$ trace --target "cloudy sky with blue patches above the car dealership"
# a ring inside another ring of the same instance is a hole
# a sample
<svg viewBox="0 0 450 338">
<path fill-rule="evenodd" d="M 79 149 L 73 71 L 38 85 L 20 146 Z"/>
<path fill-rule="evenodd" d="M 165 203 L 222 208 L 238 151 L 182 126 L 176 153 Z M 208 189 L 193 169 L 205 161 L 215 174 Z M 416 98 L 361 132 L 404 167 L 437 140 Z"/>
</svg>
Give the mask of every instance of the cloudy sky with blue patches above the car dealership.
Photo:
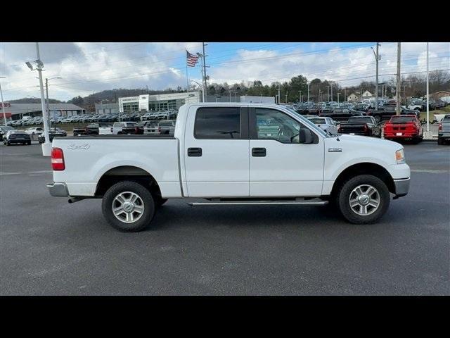
<svg viewBox="0 0 450 338">
<path fill-rule="evenodd" d="M 41 43 L 50 97 L 67 101 L 74 96 L 114 88 L 167 89 L 186 87 L 186 48 L 201 52 L 201 42 L 169 43 Z M 206 46 L 207 74 L 212 82 L 286 81 L 295 75 L 309 80 L 335 80 L 342 87 L 375 80 L 375 42 L 352 43 L 224 43 Z M 380 81 L 397 72 L 397 43 L 381 42 Z M 37 72 L 25 61 L 37 58 L 34 43 L 0 42 L 0 76 L 4 101 L 40 96 Z M 450 44 L 430 43 L 430 70 L 450 69 Z M 426 44 L 401 44 L 401 72 L 426 70 Z M 383 76 L 384 75 L 384 76 Z M 188 68 L 190 80 L 200 82 L 200 63 Z"/>
</svg>

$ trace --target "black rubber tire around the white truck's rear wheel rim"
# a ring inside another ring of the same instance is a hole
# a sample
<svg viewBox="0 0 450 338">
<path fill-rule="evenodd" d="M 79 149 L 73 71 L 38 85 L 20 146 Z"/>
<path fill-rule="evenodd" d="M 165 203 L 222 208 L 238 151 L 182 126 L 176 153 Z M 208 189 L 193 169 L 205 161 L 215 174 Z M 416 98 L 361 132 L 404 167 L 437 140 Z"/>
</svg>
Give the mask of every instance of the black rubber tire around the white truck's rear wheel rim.
<svg viewBox="0 0 450 338">
<path fill-rule="evenodd" d="M 126 223 L 117 219 L 113 213 L 113 201 L 115 201 L 115 197 L 121 192 L 133 192 L 143 202 L 143 213 L 141 217 L 132 223 Z M 155 201 L 152 194 L 142 184 L 133 181 L 118 182 L 110 187 L 103 196 L 101 208 L 103 216 L 108 220 L 108 223 L 116 230 L 122 232 L 138 232 L 145 229 L 155 215 Z"/>
</svg>

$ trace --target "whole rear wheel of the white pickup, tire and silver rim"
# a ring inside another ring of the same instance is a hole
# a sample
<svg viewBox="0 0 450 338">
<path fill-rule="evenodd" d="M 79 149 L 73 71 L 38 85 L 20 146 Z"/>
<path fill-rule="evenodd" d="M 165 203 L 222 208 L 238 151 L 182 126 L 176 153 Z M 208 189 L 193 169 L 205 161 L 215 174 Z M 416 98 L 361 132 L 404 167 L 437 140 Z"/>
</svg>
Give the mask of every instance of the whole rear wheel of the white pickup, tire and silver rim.
<svg viewBox="0 0 450 338">
<path fill-rule="evenodd" d="M 114 184 L 103 196 L 102 211 L 108 223 L 122 232 L 138 232 L 155 215 L 155 201 L 143 185 L 133 181 Z"/>
</svg>

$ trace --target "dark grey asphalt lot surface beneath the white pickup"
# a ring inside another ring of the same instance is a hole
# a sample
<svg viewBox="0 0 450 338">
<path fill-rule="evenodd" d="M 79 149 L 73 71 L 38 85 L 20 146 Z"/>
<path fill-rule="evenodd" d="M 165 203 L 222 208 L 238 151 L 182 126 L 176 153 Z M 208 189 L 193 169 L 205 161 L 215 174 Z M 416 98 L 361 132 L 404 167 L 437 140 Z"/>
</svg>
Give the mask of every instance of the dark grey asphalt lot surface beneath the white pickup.
<svg viewBox="0 0 450 338">
<path fill-rule="evenodd" d="M 162 206 L 110 227 L 100 200 L 51 197 L 39 144 L 0 144 L 1 295 L 450 294 L 450 146 L 405 144 L 411 189 L 375 225 L 323 207 Z"/>
</svg>

